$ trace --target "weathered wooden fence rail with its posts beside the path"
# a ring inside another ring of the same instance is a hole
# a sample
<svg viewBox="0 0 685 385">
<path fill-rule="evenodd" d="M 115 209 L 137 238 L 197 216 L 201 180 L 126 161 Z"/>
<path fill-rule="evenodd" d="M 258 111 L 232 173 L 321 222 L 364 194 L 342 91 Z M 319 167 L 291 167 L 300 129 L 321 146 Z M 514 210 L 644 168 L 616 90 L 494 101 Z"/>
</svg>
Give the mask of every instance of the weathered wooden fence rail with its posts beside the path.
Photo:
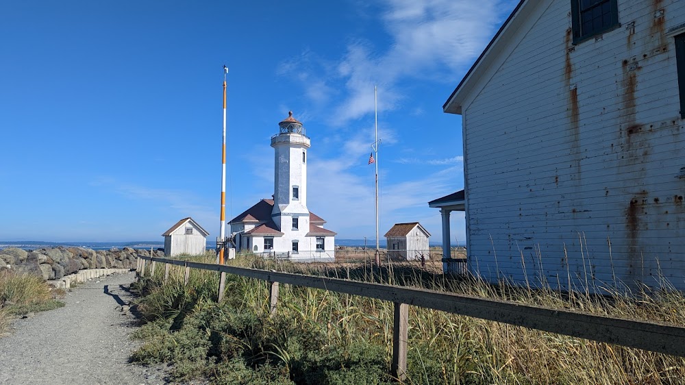
<svg viewBox="0 0 685 385">
<path fill-rule="evenodd" d="M 470 297 L 421 288 L 356 282 L 295 273 L 279 273 L 167 258 L 147 256 L 138 256 L 138 258 L 140 258 L 138 267 L 141 274 L 145 274 L 145 261 L 148 260 L 152 262 L 152 266 L 155 266 L 155 262 L 184 266 L 186 268 L 186 283 L 188 282 L 189 269 L 221 272 L 220 301 L 223 298 L 227 273 L 270 282 L 271 314 L 276 312 L 279 283 L 391 301 L 395 304 L 392 371 L 393 375 L 400 380 L 406 378 L 407 369 L 408 305 L 564 334 L 565 336 L 586 338 L 601 343 L 685 357 L 685 327 L 650 321 L 615 319 L 608 316 L 541 308 L 510 301 Z M 154 267 L 151 270 L 154 271 Z"/>
</svg>

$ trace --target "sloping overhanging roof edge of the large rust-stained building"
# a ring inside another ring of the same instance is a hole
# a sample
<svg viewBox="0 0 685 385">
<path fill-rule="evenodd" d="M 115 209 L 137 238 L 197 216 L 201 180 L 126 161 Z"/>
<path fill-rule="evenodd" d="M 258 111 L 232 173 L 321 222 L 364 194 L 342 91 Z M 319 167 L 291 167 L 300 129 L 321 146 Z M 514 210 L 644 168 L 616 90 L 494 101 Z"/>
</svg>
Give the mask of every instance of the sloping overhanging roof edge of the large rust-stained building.
<svg viewBox="0 0 685 385">
<path fill-rule="evenodd" d="M 485 47 L 484 51 L 478 56 L 478 58 L 475 60 L 475 63 L 473 63 L 473 66 L 471 66 L 471 69 L 469 69 L 469 72 L 464 75 L 462 78 L 462 81 L 458 84 L 457 88 L 455 88 L 451 95 L 449 95 L 449 98 L 447 98 L 447 101 L 445 101 L 445 104 L 443 104 L 443 111 L 444 112 L 449 112 L 451 114 L 461 114 L 462 113 L 462 106 L 460 105 L 460 101 L 456 100 L 458 98 L 458 93 L 462 90 L 462 88 L 466 88 L 465 84 L 467 82 L 470 82 L 472 78 L 477 78 L 480 73 L 485 71 L 488 66 L 490 66 L 490 62 L 493 60 L 493 56 L 497 55 L 501 49 L 495 50 L 493 47 L 495 45 L 498 45 L 500 40 L 505 40 L 503 39 L 503 36 L 506 36 L 510 27 L 516 31 L 518 27 L 521 25 L 521 20 L 525 19 L 526 16 L 528 16 L 531 13 L 531 10 L 536 6 L 540 5 L 543 3 L 543 1 L 536 0 L 536 1 L 529 1 L 529 0 L 521 0 L 519 3 L 516 5 L 516 8 L 512 11 L 512 13 L 509 15 L 509 17 L 504 21 L 501 27 L 499 27 L 499 30 L 497 31 L 497 34 L 493 37 L 493 40 L 490 40 L 488 43 L 488 46 Z M 507 42 L 503 42 L 503 45 L 506 45 Z M 490 54 L 491 52 L 493 54 Z"/>
</svg>

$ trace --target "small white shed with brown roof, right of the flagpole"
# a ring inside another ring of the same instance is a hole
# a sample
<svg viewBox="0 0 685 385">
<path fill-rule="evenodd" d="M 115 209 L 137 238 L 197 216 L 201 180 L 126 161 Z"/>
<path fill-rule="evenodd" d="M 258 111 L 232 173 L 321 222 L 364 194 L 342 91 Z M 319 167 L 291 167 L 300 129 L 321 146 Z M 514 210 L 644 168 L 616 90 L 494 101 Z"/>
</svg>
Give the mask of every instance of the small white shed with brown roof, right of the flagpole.
<svg viewBox="0 0 685 385">
<path fill-rule="evenodd" d="M 416 260 L 429 258 L 429 232 L 419 222 L 395 223 L 385 234 L 388 256 Z"/>
</svg>

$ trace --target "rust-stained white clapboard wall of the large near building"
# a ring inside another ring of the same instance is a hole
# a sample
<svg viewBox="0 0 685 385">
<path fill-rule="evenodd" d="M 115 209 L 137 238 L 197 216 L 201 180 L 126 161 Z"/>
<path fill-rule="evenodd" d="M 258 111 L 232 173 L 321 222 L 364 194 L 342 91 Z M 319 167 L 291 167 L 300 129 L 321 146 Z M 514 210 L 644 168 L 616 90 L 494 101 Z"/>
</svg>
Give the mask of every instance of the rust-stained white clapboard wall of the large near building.
<svg viewBox="0 0 685 385">
<path fill-rule="evenodd" d="M 621 26 L 574 46 L 571 2 L 542 2 L 464 103 L 470 269 L 685 289 L 685 128 L 665 35 L 685 7 L 619 0 Z"/>
</svg>

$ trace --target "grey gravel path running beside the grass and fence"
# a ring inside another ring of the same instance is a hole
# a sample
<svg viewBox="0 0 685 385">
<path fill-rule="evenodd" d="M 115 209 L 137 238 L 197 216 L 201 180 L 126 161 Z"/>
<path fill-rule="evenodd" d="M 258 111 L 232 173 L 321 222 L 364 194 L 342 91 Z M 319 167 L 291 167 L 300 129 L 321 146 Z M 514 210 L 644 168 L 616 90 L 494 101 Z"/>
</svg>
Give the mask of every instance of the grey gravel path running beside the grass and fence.
<svg viewBox="0 0 685 385">
<path fill-rule="evenodd" d="M 12 323 L 0 338 L 0 384 L 165 384 L 164 371 L 129 364 L 134 316 L 122 312 L 135 273 L 100 277 L 66 293 L 66 306 Z"/>
</svg>

